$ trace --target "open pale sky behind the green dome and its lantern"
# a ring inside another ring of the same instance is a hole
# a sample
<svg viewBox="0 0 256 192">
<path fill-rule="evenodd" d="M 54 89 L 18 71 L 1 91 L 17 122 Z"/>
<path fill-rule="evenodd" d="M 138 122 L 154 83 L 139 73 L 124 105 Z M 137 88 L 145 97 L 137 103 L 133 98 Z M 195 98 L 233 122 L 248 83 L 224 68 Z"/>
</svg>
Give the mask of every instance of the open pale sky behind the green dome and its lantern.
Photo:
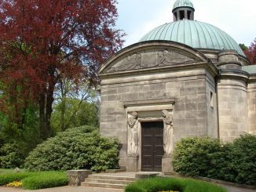
<svg viewBox="0 0 256 192">
<path fill-rule="evenodd" d="M 126 33 L 124 46 L 138 42 L 159 25 L 173 22 L 176 0 L 118 0 L 116 27 Z M 191 0 L 195 20 L 212 24 L 235 39 L 251 45 L 256 38 L 256 0 Z"/>
</svg>

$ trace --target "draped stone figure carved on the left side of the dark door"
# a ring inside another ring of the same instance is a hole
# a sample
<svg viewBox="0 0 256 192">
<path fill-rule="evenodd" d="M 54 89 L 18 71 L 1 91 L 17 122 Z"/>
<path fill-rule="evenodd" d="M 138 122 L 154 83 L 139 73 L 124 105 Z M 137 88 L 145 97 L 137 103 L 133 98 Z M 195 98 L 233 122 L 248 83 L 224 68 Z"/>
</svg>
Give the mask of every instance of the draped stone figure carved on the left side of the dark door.
<svg viewBox="0 0 256 192">
<path fill-rule="evenodd" d="M 137 157 L 138 156 L 138 114 L 133 112 L 131 115 L 128 114 L 128 156 Z"/>
</svg>

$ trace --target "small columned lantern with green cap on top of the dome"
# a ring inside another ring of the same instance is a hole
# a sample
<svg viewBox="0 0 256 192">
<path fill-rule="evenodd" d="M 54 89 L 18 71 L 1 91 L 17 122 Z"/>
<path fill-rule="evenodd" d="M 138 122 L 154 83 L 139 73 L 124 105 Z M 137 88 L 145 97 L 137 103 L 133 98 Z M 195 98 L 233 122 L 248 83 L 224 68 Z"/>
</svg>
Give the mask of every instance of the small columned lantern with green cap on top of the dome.
<svg viewBox="0 0 256 192">
<path fill-rule="evenodd" d="M 190 0 L 177 0 L 174 2 L 174 21 L 194 20 L 195 9 Z"/>
</svg>

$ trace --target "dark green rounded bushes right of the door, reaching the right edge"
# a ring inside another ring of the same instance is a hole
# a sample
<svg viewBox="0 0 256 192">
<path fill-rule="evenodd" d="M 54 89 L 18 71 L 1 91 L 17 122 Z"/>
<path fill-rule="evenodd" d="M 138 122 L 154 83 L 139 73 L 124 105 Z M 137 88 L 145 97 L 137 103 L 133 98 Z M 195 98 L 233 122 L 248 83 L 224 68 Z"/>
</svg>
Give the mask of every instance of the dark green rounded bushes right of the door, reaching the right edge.
<svg viewBox="0 0 256 192">
<path fill-rule="evenodd" d="M 256 186 L 256 136 L 233 143 L 218 139 L 185 138 L 174 150 L 174 170 L 185 176 L 205 176 Z"/>
</svg>

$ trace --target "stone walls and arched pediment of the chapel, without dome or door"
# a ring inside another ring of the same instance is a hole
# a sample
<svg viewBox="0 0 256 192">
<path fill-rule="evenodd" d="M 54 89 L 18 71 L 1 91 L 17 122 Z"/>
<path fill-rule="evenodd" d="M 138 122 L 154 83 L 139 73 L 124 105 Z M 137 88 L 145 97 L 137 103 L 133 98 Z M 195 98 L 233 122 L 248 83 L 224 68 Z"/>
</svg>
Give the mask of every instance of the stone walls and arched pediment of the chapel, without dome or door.
<svg viewBox="0 0 256 192">
<path fill-rule="evenodd" d="M 165 122 L 163 111 L 171 115 L 174 145 L 188 136 L 226 142 L 256 132 L 256 78 L 242 71 L 247 64 L 235 51 L 199 52 L 164 41 L 137 43 L 112 56 L 99 70 L 101 135 L 120 139 L 119 165 L 142 170 L 141 122 Z M 163 172 L 172 171 L 170 161 L 164 154 Z"/>
</svg>

